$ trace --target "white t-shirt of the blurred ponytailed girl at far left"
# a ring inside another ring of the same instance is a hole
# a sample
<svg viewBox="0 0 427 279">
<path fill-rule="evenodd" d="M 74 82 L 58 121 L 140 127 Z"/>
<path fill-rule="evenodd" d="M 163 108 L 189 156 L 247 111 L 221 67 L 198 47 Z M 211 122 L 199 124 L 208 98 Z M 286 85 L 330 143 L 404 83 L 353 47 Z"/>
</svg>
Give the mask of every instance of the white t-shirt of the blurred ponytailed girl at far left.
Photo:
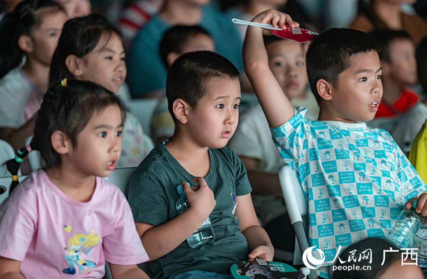
<svg viewBox="0 0 427 279">
<path fill-rule="evenodd" d="M 21 67 L 0 79 L 0 127 L 19 128 L 36 113 L 44 92 L 35 88 Z"/>
</svg>

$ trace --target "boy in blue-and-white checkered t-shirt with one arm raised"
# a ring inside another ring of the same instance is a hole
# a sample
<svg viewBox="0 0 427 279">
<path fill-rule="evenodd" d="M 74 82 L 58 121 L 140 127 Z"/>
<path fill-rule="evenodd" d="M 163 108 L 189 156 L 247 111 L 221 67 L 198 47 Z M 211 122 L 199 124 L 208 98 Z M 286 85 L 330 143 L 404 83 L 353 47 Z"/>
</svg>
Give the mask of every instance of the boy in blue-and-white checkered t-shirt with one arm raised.
<svg viewBox="0 0 427 279">
<path fill-rule="evenodd" d="M 253 22 L 284 28 L 288 15 L 268 10 Z M 306 55 L 307 75 L 320 104 L 318 121 L 294 109 L 268 65 L 263 32 L 249 26 L 243 47 L 245 71 L 285 163 L 296 172 L 309 210 L 309 245 L 330 266 L 358 239 L 385 237 L 400 211 L 427 186 L 390 134 L 370 129 L 382 96 L 377 42 L 361 31 L 331 29 L 317 36 Z M 417 205 L 427 209 L 427 194 Z M 423 217 L 425 212 L 423 211 Z M 317 270 L 329 278 L 328 269 Z M 326 271 L 326 272 L 325 272 Z"/>
</svg>

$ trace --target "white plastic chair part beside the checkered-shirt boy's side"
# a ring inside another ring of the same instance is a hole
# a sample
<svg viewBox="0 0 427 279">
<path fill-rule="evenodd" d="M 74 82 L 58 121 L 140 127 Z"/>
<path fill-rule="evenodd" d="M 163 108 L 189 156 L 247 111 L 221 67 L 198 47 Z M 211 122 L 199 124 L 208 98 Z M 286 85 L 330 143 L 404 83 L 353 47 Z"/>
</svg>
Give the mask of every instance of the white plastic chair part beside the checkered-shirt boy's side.
<svg viewBox="0 0 427 279">
<path fill-rule="evenodd" d="M 286 165 L 280 168 L 279 180 L 290 222 L 295 230 L 293 264 L 301 265 L 303 264 L 301 251 L 309 248 L 307 235 L 305 234 L 308 229 L 308 222 L 303 222 L 303 216 L 308 217 L 308 204 L 302 191 L 301 183 L 289 166 Z M 304 220 L 307 219 L 304 218 Z M 308 278 L 315 279 L 316 277 L 316 272 L 310 270 Z"/>
</svg>

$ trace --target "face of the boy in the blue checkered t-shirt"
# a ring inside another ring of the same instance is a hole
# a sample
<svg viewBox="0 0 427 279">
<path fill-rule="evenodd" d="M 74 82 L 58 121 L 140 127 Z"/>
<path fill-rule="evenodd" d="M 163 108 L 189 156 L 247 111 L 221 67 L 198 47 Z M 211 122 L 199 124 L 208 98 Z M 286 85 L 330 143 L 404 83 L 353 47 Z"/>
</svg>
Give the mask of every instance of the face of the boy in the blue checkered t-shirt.
<svg viewBox="0 0 427 279">
<path fill-rule="evenodd" d="M 372 120 L 382 92 L 377 52 L 355 54 L 350 58 L 350 67 L 340 74 L 336 88 L 331 88 L 327 114 L 334 120 L 348 123 Z"/>
</svg>

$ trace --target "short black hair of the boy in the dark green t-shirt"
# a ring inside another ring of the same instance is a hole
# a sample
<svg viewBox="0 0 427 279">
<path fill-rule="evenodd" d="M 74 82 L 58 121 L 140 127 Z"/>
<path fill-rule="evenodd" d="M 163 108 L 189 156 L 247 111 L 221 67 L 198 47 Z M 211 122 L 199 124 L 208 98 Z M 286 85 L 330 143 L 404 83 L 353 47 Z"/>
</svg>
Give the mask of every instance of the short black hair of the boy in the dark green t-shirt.
<svg viewBox="0 0 427 279">
<path fill-rule="evenodd" d="M 175 60 L 166 79 L 167 104 L 174 121 L 173 102 L 183 99 L 196 108 L 206 95 L 207 82 L 214 77 L 237 79 L 239 71 L 225 57 L 212 51 L 189 52 Z"/>
</svg>

